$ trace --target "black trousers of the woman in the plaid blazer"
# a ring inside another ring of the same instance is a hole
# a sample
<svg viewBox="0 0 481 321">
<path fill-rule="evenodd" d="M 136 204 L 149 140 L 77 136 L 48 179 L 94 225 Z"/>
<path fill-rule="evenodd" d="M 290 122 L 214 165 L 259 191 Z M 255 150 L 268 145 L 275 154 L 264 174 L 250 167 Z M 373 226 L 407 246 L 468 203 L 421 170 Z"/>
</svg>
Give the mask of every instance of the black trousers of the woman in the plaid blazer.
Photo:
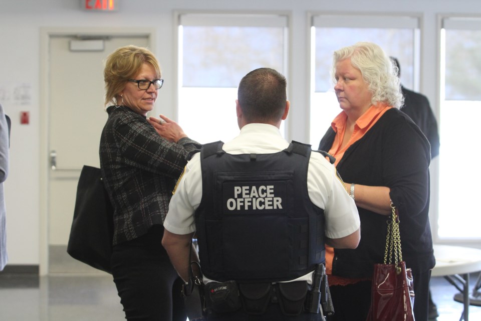
<svg viewBox="0 0 481 321">
<path fill-rule="evenodd" d="M 162 247 L 163 226 L 114 246 L 112 275 L 129 321 L 185 321 L 183 283 Z"/>
</svg>

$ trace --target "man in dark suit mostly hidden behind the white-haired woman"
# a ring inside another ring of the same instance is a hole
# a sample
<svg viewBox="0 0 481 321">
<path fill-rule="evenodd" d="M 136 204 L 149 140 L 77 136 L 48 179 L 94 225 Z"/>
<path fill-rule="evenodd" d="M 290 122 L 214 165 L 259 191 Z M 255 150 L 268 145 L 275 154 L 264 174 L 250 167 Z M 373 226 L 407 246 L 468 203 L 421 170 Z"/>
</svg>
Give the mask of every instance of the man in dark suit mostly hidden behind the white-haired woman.
<svg viewBox="0 0 481 321">
<path fill-rule="evenodd" d="M 399 61 L 394 57 L 391 57 L 391 60 L 398 69 L 397 76 L 400 77 L 401 67 L 399 66 Z M 404 96 L 404 105 L 401 107 L 401 111 L 411 117 L 426 136 L 427 140 L 429 140 L 432 159 L 439 155 L 439 133 L 437 131 L 436 118 L 432 113 L 429 100 L 426 96 L 406 89 L 402 85 L 401 91 Z M 429 319 L 435 319 L 439 316 L 436 304 L 434 304 L 431 298 L 431 290 L 429 290 L 428 313 Z"/>
</svg>

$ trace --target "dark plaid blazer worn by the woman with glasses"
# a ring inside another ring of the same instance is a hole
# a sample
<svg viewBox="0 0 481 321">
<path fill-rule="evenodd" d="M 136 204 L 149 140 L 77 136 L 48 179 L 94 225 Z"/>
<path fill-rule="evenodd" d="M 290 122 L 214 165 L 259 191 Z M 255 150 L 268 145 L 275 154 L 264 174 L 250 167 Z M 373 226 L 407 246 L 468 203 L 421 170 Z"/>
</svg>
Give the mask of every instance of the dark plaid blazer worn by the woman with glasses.
<svg viewBox="0 0 481 321">
<path fill-rule="evenodd" d="M 186 155 L 200 144 L 162 138 L 126 106 L 110 106 L 100 138 L 100 168 L 114 206 L 113 244 L 135 239 L 162 224 Z"/>
</svg>

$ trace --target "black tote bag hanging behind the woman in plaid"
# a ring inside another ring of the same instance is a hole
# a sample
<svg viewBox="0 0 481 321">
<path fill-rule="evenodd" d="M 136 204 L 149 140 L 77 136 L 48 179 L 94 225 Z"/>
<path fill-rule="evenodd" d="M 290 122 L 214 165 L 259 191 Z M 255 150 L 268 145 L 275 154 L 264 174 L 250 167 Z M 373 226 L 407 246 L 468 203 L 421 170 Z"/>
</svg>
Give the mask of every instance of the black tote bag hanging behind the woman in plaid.
<svg viewBox="0 0 481 321">
<path fill-rule="evenodd" d="M 100 169 L 84 165 L 77 186 L 67 253 L 96 269 L 112 273 L 113 213 Z"/>
</svg>

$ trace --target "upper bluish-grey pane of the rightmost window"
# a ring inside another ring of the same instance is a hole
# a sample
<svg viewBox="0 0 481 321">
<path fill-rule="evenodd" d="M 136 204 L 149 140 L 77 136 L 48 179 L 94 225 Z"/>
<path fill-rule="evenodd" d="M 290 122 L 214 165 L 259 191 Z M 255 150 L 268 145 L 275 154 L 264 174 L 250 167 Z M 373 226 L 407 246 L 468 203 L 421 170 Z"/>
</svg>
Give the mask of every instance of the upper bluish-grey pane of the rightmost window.
<svg viewBox="0 0 481 321">
<path fill-rule="evenodd" d="M 446 100 L 481 100 L 481 31 L 446 30 Z"/>
</svg>

